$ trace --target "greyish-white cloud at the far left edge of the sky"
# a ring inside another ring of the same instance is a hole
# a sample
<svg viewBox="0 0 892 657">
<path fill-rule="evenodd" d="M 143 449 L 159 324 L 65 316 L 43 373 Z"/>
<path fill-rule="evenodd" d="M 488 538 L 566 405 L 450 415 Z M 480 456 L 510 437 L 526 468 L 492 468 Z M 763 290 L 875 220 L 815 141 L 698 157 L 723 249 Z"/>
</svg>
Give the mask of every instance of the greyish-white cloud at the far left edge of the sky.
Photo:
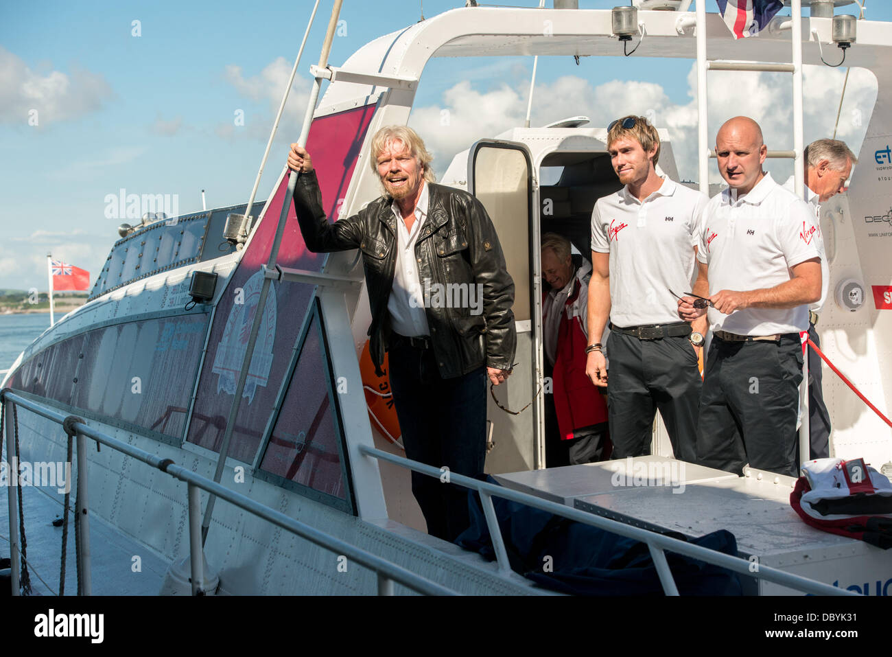
<svg viewBox="0 0 892 657">
<path fill-rule="evenodd" d="M 70 75 L 40 75 L 0 46 L 0 123 L 44 127 L 95 112 L 111 96 L 98 73 L 72 66 Z"/>
</svg>

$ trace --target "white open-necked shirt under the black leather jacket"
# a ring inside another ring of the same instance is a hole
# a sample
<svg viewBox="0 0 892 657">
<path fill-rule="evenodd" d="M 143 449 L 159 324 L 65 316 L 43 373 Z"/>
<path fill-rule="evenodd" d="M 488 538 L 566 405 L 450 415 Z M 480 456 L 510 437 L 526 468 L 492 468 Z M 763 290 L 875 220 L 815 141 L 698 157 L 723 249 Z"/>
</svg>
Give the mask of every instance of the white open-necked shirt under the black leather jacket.
<svg viewBox="0 0 892 657">
<path fill-rule="evenodd" d="M 418 279 L 418 260 L 415 245 L 421 234 L 421 225 L 427 218 L 427 184 L 422 183 L 421 195 L 415 206 L 415 222 L 406 228 L 400 206 L 394 200 L 391 206 L 396 216 L 396 269 L 393 271 L 393 287 L 387 299 L 387 311 L 391 315 L 391 328 L 402 336 L 429 336 L 425 312 L 425 296 Z"/>
</svg>

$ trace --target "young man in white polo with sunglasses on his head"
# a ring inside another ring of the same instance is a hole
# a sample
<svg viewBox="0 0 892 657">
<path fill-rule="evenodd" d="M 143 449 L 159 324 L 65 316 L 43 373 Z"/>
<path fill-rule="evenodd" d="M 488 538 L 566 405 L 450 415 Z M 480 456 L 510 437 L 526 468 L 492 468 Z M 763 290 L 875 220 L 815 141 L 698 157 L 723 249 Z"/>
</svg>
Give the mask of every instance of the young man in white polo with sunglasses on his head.
<svg viewBox="0 0 892 657">
<path fill-rule="evenodd" d="M 708 199 L 657 175 L 659 136 L 644 117 L 611 123 L 607 150 L 625 187 L 599 198 L 591 214 L 586 373 L 596 386 L 607 386 L 613 458 L 650 453 L 659 409 L 675 457 L 693 462 L 706 320 L 695 321 L 692 332 L 679 321 L 673 295 L 690 290 Z M 604 346 L 596 341 L 608 318 Z"/>
</svg>

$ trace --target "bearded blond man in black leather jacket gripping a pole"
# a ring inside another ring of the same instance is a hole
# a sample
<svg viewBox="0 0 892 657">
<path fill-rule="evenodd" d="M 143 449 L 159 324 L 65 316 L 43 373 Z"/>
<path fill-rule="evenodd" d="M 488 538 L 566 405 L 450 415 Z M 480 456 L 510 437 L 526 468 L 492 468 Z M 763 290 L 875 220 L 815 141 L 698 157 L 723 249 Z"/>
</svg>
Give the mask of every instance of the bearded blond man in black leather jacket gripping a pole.
<svg viewBox="0 0 892 657">
<path fill-rule="evenodd" d="M 369 352 L 379 375 L 389 353 L 407 458 L 475 477 L 486 456 L 486 378 L 498 386 L 511 373 L 514 282 L 483 204 L 434 183 L 414 130 L 380 129 L 370 159 L 384 195 L 329 223 L 310 154 L 292 145 L 301 234 L 313 252 L 362 251 Z M 412 492 L 432 536 L 451 541 L 467 528 L 467 490 L 448 477 L 413 472 Z"/>
</svg>

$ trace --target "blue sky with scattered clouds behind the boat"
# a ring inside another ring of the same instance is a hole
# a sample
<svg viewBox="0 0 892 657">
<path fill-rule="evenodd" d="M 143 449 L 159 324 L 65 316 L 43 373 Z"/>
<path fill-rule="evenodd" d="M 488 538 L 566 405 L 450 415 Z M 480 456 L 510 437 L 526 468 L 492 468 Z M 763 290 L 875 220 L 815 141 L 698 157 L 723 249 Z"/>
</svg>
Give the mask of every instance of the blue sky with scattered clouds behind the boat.
<svg viewBox="0 0 892 657">
<path fill-rule="evenodd" d="M 176 195 L 180 212 L 201 209 L 202 188 L 209 207 L 244 203 L 312 4 L 4 2 L 0 225 L 5 239 L 0 246 L 0 287 L 44 290 L 42 259 L 47 251 L 95 277 L 120 223 L 105 216 L 105 197 L 117 195 L 120 188 Z M 341 64 L 369 40 L 417 21 L 422 10 L 430 17 L 463 4 L 345 0 L 341 18 L 346 35 L 335 38 L 330 62 Z M 536 6 L 538 0 L 510 4 Z M 615 4 L 621 3 L 580 0 L 582 9 Z M 297 136 L 300 101 L 310 85 L 308 67 L 318 60 L 331 5 L 331 0 L 320 4 L 298 71 L 295 102 L 289 104 L 270 156 L 260 199 L 268 195 L 285 148 Z M 708 11 L 715 11 L 714 3 Z M 846 11 L 855 12 L 854 5 Z M 892 7 L 869 2 L 867 15 L 892 21 Z M 139 21 L 139 36 L 134 36 L 133 21 Z M 439 116 L 442 107 L 453 113 L 453 134 L 434 137 L 430 144 L 439 173 L 470 140 L 522 121 L 532 65 L 527 57 L 434 60 L 428 66 L 409 122 L 425 134 L 425 117 Z M 691 66 L 685 60 L 634 57 L 583 58 L 576 66 L 569 57 L 542 58 L 533 125 L 580 113 L 601 125 L 612 112 L 653 111 L 657 124 L 678 139 L 681 174 L 690 178 L 696 162 L 684 145 L 692 129 Z M 814 85 L 828 87 L 828 106 L 831 96 L 838 103 L 838 89 L 830 87 L 839 86 L 840 76 L 830 70 L 812 75 Z M 808 80 L 806 71 L 806 92 Z M 754 77 L 752 85 L 747 96 L 769 97 L 781 88 L 770 77 Z M 869 113 L 870 79 L 859 79 L 853 71 L 849 85 L 851 106 L 844 108 L 844 116 Z M 712 98 L 712 87 L 710 94 Z M 558 96 L 562 101 L 554 103 Z M 631 106 L 615 103 L 626 96 L 635 99 Z M 239 110 L 244 112 L 244 126 L 234 124 Z M 835 112 L 832 104 L 834 118 Z M 824 111 L 806 116 L 806 141 L 826 136 L 827 116 Z M 35 117 L 37 125 L 29 124 Z M 860 135 L 855 128 L 849 133 L 843 137 L 860 145 L 863 130 Z"/>
</svg>

